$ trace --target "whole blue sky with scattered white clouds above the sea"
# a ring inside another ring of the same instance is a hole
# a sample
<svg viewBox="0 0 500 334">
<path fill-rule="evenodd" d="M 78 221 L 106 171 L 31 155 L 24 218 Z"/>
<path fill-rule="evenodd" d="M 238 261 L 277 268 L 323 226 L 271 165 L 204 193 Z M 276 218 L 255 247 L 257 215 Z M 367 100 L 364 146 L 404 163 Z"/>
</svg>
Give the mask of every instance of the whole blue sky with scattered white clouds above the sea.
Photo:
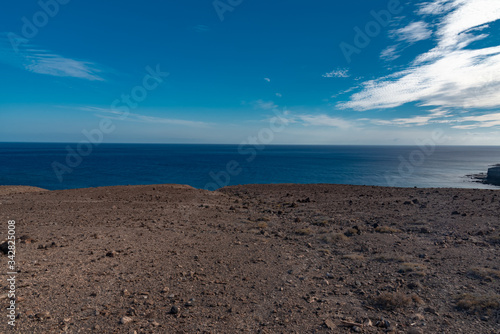
<svg viewBox="0 0 500 334">
<path fill-rule="evenodd" d="M 498 0 L 10 2 L 0 141 L 499 145 L 499 28 Z"/>
</svg>

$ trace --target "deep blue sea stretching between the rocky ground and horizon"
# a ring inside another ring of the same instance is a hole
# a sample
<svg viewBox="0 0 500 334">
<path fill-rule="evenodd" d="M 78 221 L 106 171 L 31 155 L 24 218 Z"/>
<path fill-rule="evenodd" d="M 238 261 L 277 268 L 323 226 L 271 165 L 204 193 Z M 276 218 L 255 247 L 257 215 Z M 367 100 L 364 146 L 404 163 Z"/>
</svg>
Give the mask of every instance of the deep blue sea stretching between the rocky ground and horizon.
<svg viewBox="0 0 500 334">
<path fill-rule="evenodd" d="M 91 148 L 91 151 L 89 150 Z M 0 185 L 338 183 L 490 188 L 466 175 L 500 163 L 500 147 L 0 143 Z"/>
</svg>

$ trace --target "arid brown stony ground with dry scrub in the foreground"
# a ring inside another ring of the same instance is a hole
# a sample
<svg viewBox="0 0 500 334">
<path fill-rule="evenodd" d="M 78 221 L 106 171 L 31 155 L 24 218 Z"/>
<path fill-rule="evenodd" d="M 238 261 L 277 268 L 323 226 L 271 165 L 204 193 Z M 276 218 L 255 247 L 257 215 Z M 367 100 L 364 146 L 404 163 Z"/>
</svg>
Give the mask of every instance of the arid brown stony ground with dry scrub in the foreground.
<svg viewBox="0 0 500 334">
<path fill-rule="evenodd" d="M 495 190 L 0 187 L 8 220 L 2 333 L 500 333 Z"/>
</svg>

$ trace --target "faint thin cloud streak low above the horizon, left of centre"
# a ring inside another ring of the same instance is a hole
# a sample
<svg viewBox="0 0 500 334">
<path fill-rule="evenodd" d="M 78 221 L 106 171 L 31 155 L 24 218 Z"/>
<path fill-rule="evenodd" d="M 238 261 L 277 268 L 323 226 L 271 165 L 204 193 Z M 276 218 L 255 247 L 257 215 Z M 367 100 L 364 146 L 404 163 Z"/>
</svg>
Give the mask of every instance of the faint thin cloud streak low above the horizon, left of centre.
<svg viewBox="0 0 500 334">
<path fill-rule="evenodd" d="M 136 113 L 122 113 L 116 110 L 100 108 L 100 107 L 80 107 L 80 110 L 94 112 L 100 117 L 112 118 L 117 120 L 128 120 L 135 122 L 146 122 L 146 123 L 161 123 L 161 124 L 172 124 L 172 125 L 182 125 L 188 127 L 208 127 L 210 124 L 206 122 L 190 121 L 184 119 L 174 119 L 174 118 L 164 118 L 148 116 Z"/>
</svg>

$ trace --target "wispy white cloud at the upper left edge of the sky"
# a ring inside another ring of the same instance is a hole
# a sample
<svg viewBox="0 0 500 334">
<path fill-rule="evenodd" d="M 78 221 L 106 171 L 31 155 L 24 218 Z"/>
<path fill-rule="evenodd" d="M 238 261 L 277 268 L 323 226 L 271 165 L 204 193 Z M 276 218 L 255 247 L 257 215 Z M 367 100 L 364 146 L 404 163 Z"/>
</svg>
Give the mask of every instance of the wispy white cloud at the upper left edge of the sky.
<svg viewBox="0 0 500 334">
<path fill-rule="evenodd" d="M 10 36 L 10 39 L 12 38 Z M 27 41 L 18 41 L 16 52 L 10 39 L 6 35 L 0 36 L 0 62 L 38 74 L 91 81 L 104 80 L 102 66 L 96 63 L 63 57 L 30 45 Z"/>
</svg>

